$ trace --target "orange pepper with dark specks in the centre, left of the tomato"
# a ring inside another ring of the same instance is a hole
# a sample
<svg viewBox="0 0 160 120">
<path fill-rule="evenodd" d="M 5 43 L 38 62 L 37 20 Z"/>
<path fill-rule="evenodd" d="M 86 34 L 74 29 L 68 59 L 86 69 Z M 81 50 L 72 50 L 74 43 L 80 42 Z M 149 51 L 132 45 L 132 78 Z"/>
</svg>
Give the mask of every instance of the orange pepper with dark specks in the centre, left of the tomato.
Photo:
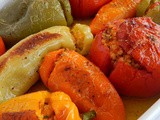
<svg viewBox="0 0 160 120">
<path fill-rule="evenodd" d="M 80 113 L 94 110 L 94 120 L 125 120 L 121 98 L 105 75 L 75 51 L 48 53 L 39 69 L 51 91 L 67 93 Z"/>
</svg>

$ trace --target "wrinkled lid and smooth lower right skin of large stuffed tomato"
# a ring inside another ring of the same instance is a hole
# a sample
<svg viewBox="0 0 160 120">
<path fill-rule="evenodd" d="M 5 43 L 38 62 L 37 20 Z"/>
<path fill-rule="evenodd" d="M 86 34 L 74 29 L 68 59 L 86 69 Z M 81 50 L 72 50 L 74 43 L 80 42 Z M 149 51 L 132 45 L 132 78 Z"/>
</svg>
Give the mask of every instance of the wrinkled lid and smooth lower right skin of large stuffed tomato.
<svg viewBox="0 0 160 120">
<path fill-rule="evenodd" d="M 109 79 L 120 94 L 150 97 L 160 93 L 160 25 L 151 18 L 128 19 L 117 31 L 124 52 L 140 68 L 118 60 Z"/>
</svg>

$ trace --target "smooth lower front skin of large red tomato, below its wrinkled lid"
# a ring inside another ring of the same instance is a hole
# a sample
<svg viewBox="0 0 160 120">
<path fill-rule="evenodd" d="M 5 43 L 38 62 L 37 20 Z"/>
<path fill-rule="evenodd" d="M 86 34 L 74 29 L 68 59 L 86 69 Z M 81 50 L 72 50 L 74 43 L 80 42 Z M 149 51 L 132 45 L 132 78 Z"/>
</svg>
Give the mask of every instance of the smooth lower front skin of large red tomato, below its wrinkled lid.
<svg viewBox="0 0 160 120">
<path fill-rule="evenodd" d="M 157 74 L 158 73 L 158 74 Z M 120 94 L 125 96 L 151 97 L 160 92 L 160 69 L 148 73 L 119 61 L 111 72 L 109 80 Z"/>
</svg>

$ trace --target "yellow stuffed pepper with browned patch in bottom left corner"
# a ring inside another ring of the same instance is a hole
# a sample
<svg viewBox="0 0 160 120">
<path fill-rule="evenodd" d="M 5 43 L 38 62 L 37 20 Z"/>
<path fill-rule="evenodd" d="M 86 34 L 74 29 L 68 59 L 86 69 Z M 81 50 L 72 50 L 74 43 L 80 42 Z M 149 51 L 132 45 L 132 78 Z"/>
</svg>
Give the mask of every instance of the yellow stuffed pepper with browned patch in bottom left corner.
<svg viewBox="0 0 160 120">
<path fill-rule="evenodd" d="M 0 120 L 81 120 L 70 97 L 63 92 L 39 91 L 0 104 Z"/>
</svg>

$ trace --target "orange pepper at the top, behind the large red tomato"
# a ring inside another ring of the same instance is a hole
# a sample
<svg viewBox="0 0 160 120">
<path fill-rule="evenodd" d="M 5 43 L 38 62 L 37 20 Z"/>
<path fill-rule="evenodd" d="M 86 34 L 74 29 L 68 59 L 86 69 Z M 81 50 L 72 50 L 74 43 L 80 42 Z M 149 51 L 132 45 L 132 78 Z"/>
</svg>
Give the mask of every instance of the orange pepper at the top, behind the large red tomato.
<svg viewBox="0 0 160 120">
<path fill-rule="evenodd" d="M 95 18 L 92 20 L 90 27 L 95 35 L 100 32 L 108 22 L 130 18 L 136 15 L 136 7 L 141 0 L 112 0 L 104 5 Z"/>
</svg>

